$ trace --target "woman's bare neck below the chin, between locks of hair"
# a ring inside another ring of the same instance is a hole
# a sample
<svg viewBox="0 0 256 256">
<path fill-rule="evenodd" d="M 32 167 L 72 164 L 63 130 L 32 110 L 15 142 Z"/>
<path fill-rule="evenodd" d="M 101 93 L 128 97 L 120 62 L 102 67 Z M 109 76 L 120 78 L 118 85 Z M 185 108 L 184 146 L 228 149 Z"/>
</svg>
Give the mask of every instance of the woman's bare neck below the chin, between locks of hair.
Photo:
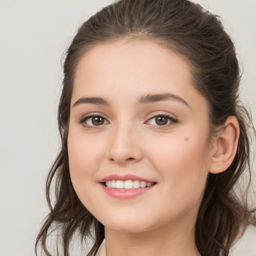
<svg viewBox="0 0 256 256">
<path fill-rule="evenodd" d="M 179 223 L 133 233 L 105 228 L 106 256 L 198 256 L 194 226 L 183 227 Z"/>
</svg>

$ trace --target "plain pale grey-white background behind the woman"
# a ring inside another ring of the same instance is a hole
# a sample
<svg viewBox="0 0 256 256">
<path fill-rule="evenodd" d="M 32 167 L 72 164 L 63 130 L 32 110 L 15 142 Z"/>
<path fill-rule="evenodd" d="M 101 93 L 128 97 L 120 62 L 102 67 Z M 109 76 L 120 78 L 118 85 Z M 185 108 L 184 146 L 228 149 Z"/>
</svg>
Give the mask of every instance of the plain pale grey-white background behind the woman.
<svg viewBox="0 0 256 256">
<path fill-rule="evenodd" d="M 34 240 L 48 212 L 45 179 L 59 147 L 60 58 L 78 25 L 110 2 L 0 1 L 1 256 L 34 255 Z M 256 0 L 198 2 L 220 15 L 234 38 L 244 67 L 241 96 L 255 124 Z M 255 180 L 254 173 L 256 186 Z M 255 229 L 245 233 L 230 255 L 256 255 Z"/>
</svg>

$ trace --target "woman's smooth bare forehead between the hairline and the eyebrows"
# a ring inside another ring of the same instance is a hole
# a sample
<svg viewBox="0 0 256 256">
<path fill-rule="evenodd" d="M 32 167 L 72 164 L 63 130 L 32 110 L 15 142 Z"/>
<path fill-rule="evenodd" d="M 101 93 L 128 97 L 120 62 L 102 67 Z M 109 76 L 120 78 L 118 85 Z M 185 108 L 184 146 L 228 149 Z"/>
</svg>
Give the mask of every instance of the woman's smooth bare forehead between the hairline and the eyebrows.
<svg viewBox="0 0 256 256">
<path fill-rule="evenodd" d="M 96 45 L 80 58 L 71 101 L 80 96 L 112 100 L 166 92 L 186 101 L 199 94 L 192 85 L 188 63 L 154 41 L 123 39 Z"/>
</svg>

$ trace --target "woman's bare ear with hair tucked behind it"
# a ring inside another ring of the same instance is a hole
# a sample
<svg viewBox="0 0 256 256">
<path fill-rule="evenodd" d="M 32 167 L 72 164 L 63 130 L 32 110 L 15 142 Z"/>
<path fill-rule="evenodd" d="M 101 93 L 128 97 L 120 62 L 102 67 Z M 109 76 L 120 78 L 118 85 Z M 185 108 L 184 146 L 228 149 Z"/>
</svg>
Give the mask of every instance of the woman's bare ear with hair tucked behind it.
<svg viewBox="0 0 256 256">
<path fill-rule="evenodd" d="M 239 124 L 235 116 L 228 116 L 223 128 L 213 137 L 210 173 L 225 171 L 232 163 L 238 144 Z"/>
</svg>

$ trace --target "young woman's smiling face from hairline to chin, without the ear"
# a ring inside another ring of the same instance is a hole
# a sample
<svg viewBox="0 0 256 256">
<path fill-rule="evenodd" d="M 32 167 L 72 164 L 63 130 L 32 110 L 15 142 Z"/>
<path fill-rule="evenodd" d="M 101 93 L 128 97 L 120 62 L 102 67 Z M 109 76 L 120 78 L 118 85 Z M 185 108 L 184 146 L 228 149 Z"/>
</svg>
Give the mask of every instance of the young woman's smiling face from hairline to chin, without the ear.
<svg viewBox="0 0 256 256">
<path fill-rule="evenodd" d="M 194 223 L 210 149 L 206 100 L 188 64 L 148 40 L 87 51 L 75 72 L 68 157 L 79 199 L 105 228 Z"/>
</svg>

